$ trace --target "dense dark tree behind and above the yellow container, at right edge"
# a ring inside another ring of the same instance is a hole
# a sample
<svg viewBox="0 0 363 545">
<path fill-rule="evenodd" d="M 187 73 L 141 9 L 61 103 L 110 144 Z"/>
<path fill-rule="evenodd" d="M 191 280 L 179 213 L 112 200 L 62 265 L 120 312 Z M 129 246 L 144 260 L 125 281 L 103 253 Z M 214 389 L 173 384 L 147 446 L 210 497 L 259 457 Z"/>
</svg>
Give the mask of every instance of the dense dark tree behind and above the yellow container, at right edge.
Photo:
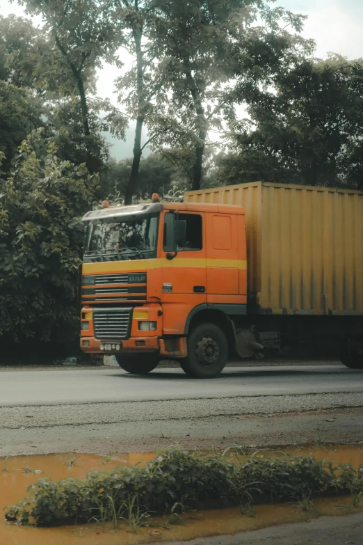
<svg viewBox="0 0 363 545">
<path fill-rule="evenodd" d="M 218 159 L 227 183 L 266 180 L 362 187 L 363 61 L 303 61 L 251 98 Z"/>
</svg>

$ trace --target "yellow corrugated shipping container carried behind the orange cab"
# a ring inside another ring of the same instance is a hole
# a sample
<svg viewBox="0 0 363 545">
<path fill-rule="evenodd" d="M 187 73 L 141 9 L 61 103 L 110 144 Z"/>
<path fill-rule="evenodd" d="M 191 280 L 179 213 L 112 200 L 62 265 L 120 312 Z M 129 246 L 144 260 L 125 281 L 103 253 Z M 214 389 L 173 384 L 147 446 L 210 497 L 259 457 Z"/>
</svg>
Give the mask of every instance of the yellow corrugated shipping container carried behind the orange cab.
<svg viewBox="0 0 363 545">
<path fill-rule="evenodd" d="M 189 191 L 245 208 L 252 312 L 363 315 L 363 192 L 254 182 Z"/>
</svg>

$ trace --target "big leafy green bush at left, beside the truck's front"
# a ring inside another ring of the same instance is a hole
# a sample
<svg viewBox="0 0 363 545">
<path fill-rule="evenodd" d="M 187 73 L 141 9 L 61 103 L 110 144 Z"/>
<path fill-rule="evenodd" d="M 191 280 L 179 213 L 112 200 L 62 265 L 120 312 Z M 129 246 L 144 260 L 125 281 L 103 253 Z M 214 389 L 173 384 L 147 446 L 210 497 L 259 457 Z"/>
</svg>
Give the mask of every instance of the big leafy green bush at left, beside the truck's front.
<svg viewBox="0 0 363 545">
<path fill-rule="evenodd" d="M 56 156 L 42 129 L 0 180 L 0 335 L 21 342 L 78 337 L 76 276 L 98 178 Z"/>
</svg>

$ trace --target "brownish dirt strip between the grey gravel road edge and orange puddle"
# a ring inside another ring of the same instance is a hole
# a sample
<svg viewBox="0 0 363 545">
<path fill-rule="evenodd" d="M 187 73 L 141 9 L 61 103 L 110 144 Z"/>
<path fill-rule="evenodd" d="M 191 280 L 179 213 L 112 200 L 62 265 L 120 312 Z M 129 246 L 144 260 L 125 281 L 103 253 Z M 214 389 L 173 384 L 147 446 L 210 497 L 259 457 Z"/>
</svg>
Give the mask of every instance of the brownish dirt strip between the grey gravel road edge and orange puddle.
<svg viewBox="0 0 363 545">
<path fill-rule="evenodd" d="M 61 411 L 62 407 L 56 409 Z M 362 408 L 49 427 L 33 427 L 31 410 L 28 408 L 28 411 L 27 427 L 0 429 L 0 456 L 72 451 L 150 452 L 172 444 L 209 450 L 251 445 L 252 448 L 280 448 L 282 445 L 363 443 Z"/>
</svg>

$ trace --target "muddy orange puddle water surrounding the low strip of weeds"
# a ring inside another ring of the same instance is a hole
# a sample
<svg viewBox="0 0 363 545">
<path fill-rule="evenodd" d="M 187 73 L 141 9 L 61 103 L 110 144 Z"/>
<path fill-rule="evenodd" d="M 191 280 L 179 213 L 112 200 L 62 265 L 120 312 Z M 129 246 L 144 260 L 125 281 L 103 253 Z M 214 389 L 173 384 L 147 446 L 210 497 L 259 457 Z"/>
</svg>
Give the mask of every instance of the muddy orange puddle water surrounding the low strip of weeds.
<svg viewBox="0 0 363 545">
<path fill-rule="evenodd" d="M 339 448 L 301 448 L 289 451 L 294 455 L 312 453 L 316 459 L 330 459 L 363 464 L 363 446 Z M 20 456 L 0 459 L 0 508 L 13 505 L 26 495 L 26 488 L 39 477 L 60 480 L 65 477 L 85 477 L 95 469 L 112 469 L 115 466 L 144 464 L 154 458 L 154 452 L 143 454 L 110 455 L 47 455 Z M 35 470 L 41 474 L 32 473 Z M 63 528 L 27 528 L 0 522 L 0 545 L 123 545 L 193 539 L 195 537 L 233 534 L 243 530 L 255 530 L 279 523 L 312 519 L 322 515 L 343 515 L 363 510 L 353 508 L 351 498 L 326 498 L 314 500 L 309 512 L 303 513 L 295 505 L 259 505 L 253 516 L 242 516 L 239 509 L 211 510 L 187 513 L 182 524 L 166 529 L 163 517 L 152 519 L 148 528 L 140 533 L 128 531 L 126 523 L 120 523 L 118 531 L 110 525 L 88 524 Z"/>
</svg>

